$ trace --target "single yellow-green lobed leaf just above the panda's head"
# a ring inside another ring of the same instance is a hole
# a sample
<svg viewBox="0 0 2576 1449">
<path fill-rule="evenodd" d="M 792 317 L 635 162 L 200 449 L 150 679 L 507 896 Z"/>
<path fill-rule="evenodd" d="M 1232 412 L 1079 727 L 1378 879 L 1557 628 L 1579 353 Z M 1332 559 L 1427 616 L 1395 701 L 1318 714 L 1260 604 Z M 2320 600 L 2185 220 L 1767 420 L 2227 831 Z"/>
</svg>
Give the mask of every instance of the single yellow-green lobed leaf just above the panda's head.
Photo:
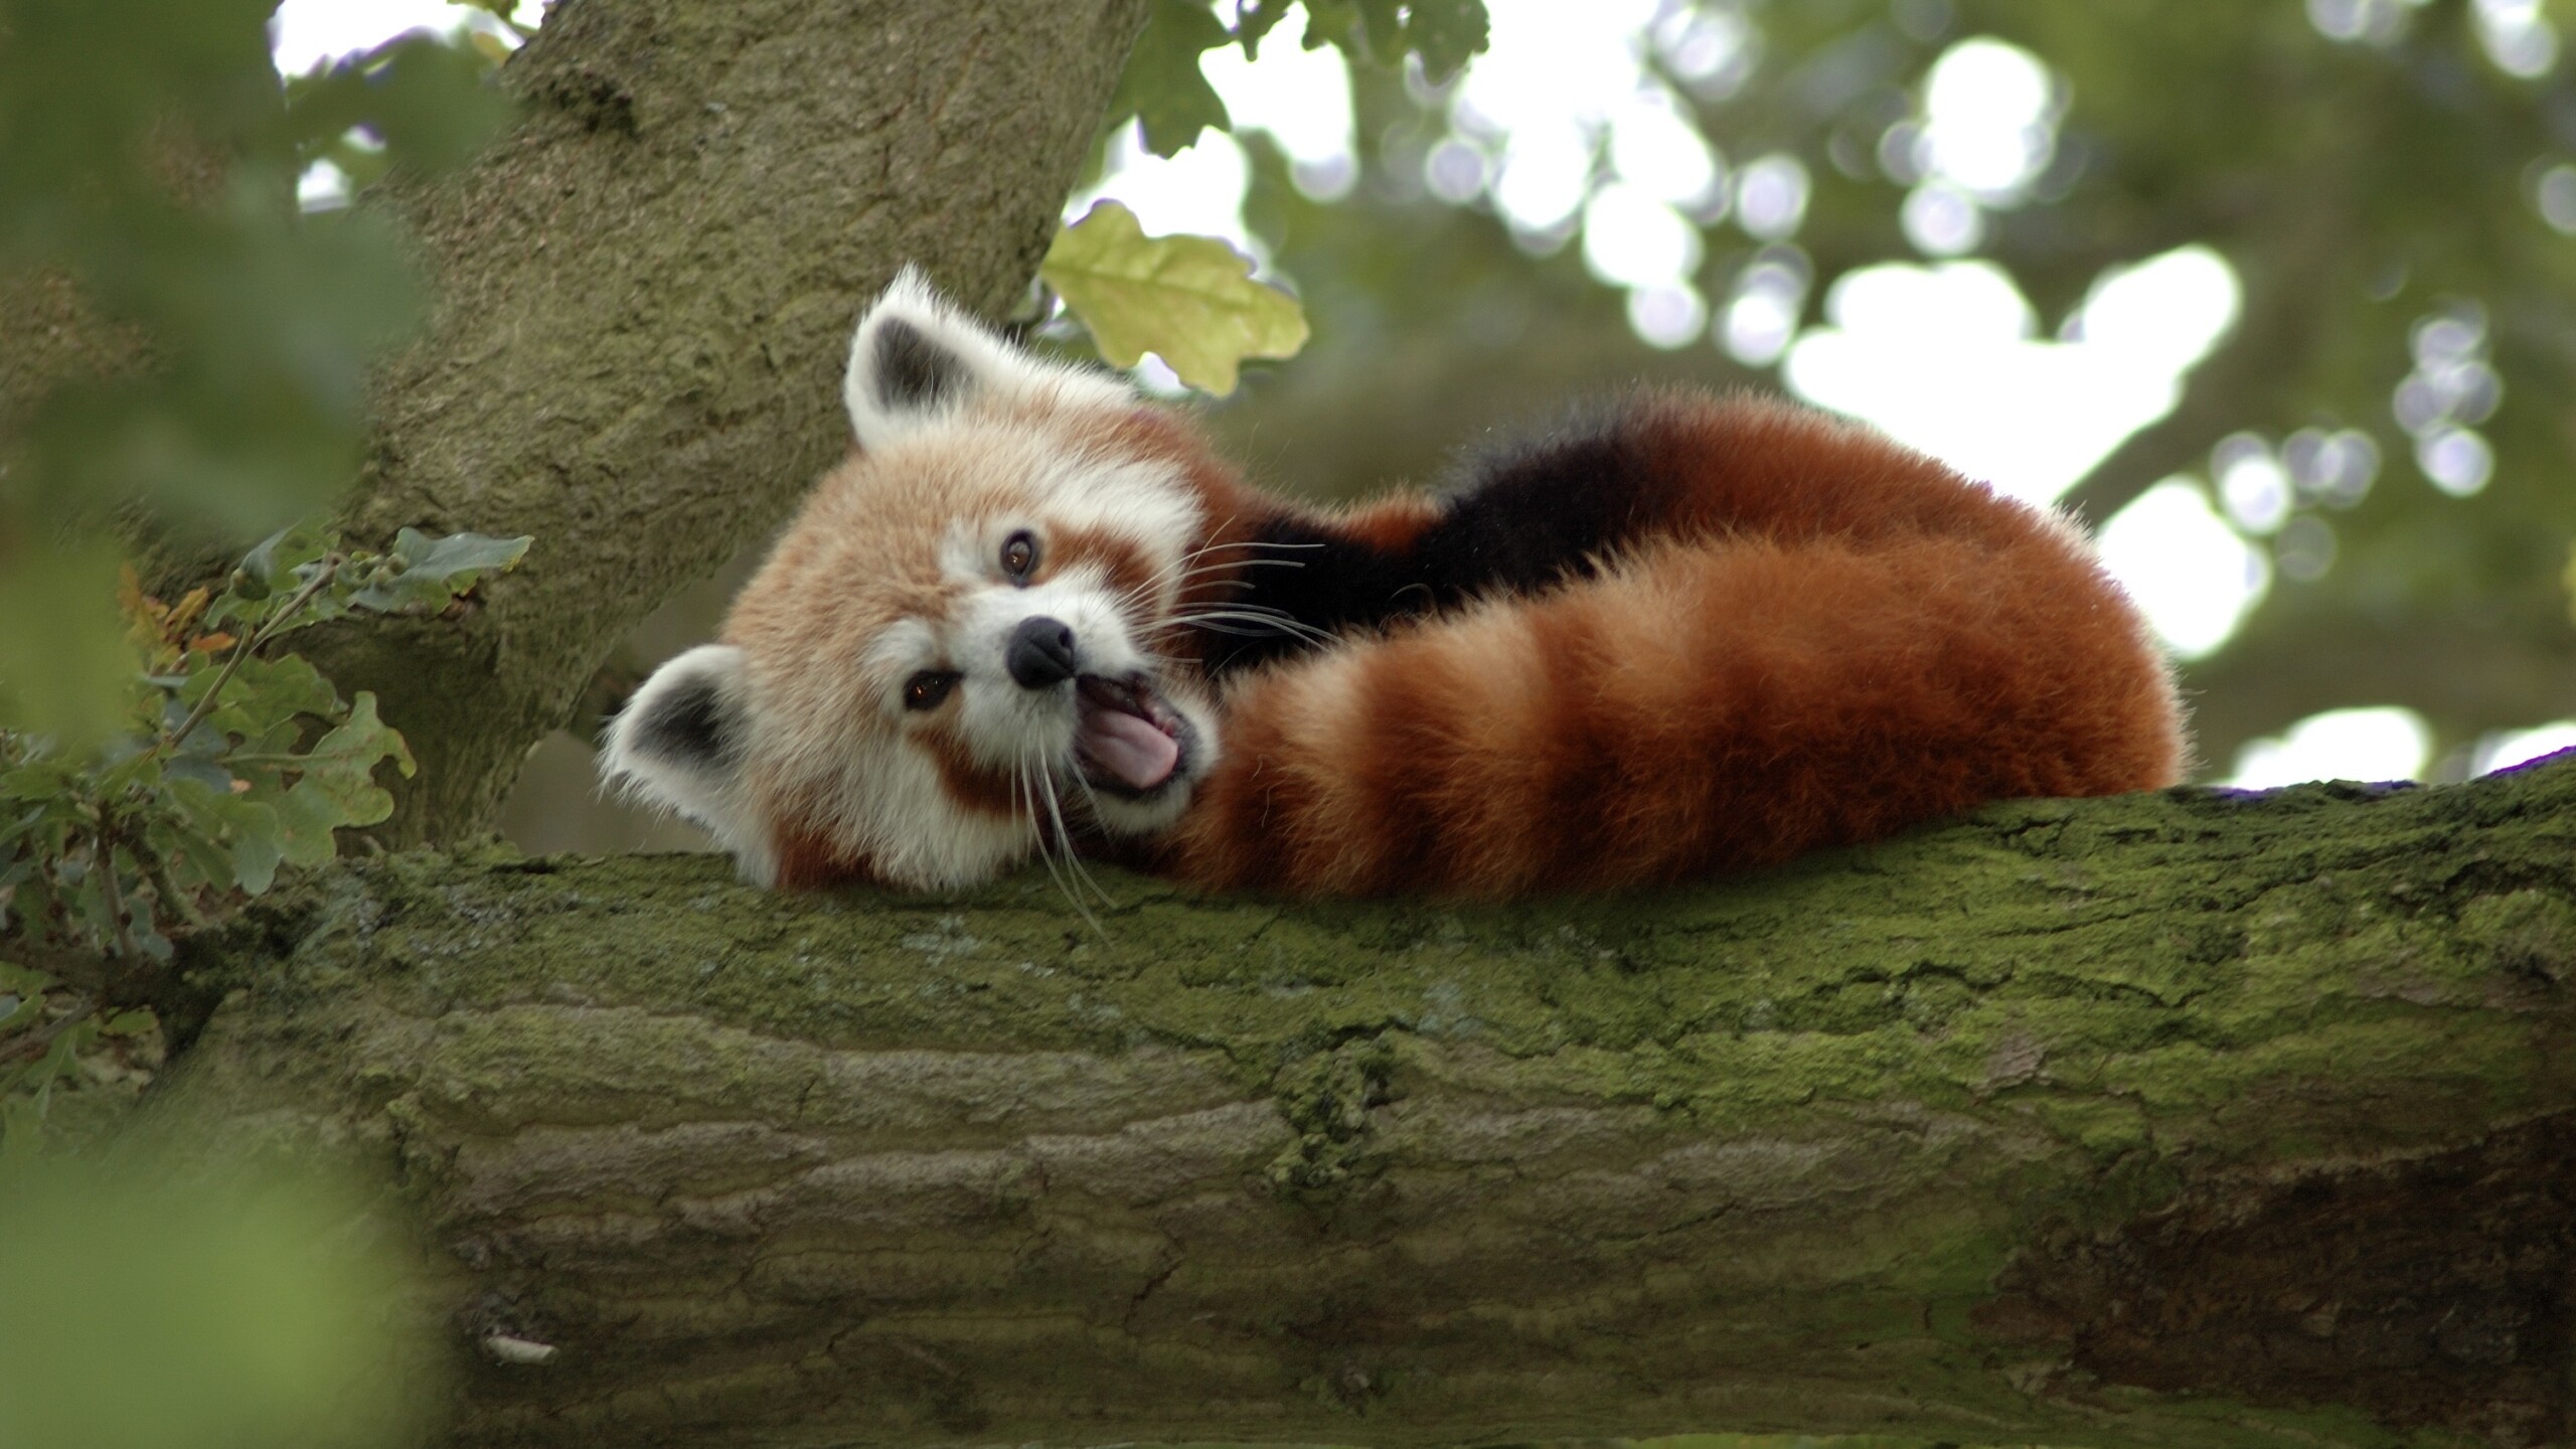
<svg viewBox="0 0 2576 1449">
<path fill-rule="evenodd" d="M 1252 263 L 1216 237 L 1146 237 L 1115 201 L 1056 232 L 1038 276 L 1064 297 L 1115 366 L 1159 353 L 1190 387 L 1234 392 L 1242 358 L 1306 345 L 1306 312 L 1252 281 Z"/>
</svg>

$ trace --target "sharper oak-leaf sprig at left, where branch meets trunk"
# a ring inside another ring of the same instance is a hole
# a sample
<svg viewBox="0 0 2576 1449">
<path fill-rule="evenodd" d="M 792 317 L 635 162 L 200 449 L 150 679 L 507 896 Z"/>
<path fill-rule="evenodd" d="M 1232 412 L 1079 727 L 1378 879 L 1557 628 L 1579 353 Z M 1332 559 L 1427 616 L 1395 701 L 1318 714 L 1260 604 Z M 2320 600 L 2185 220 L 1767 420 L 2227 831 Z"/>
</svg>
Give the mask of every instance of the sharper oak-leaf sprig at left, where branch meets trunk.
<svg viewBox="0 0 2576 1449">
<path fill-rule="evenodd" d="M 33 1142 L 57 1088 L 134 1070 L 131 1039 L 173 938 L 319 866 L 335 830 L 394 810 L 376 766 L 412 773 L 376 699 L 340 701 L 278 639 L 353 611 L 438 614 L 515 567 L 528 539 L 404 529 L 348 549 L 286 529 L 224 588 L 178 603 L 126 575 L 124 719 L 98 750 L 0 730 L 0 938 L 52 969 L 0 962 L 0 1158 Z"/>
</svg>

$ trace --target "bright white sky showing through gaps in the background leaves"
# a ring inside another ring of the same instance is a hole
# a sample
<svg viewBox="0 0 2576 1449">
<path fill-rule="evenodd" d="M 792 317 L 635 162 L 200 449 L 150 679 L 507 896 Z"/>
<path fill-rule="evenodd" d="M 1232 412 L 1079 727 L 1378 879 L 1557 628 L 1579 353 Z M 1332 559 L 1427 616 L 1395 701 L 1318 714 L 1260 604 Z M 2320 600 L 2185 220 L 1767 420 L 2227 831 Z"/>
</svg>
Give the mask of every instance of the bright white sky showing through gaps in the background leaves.
<svg viewBox="0 0 2576 1449">
<path fill-rule="evenodd" d="M 2308 0 L 2308 13 L 2329 39 L 2385 44 L 2380 10 L 2396 13 L 2398 3 Z M 520 23 L 536 23 L 538 8 L 541 0 L 526 0 Z M 1450 129 L 1425 157 L 1422 186 L 1448 204 L 1489 206 L 1525 250 L 1579 248 L 1592 276 L 1625 289 L 1631 327 L 1649 345 L 1716 345 L 1749 366 L 1777 364 L 1790 392 L 1868 418 L 2002 492 L 2045 503 L 2128 433 L 2169 413 L 2182 376 L 2236 320 L 2236 273 L 2208 248 L 2105 271 L 2053 330 L 2009 273 L 1973 258 L 1986 217 L 2020 206 L 2045 175 L 2069 95 L 2030 52 L 1963 39 L 1935 62 L 1922 111 L 1891 126 L 1878 147 L 1880 168 L 1909 186 L 1899 217 L 1922 260 L 1837 278 L 1824 294 L 1824 320 L 1801 330 L 1814 276 L 1795 245 L 1806 168 L 1788 155 L 1723 155 L 1674 90 L 1723 98 L 1739 88 L 1757 62 L 1752 28 L 1734 10 L 1674 0 L 1489 0 L 1489 8 L 1492 52 L 1450 88 Z M 2540 31 L 2514 28 L 2522 21 L 2512 3 L 2481 0 L 2478 15 L 2496 64 L 2532 64 L 2524 52 L 2543 44 L 2530 39 Z M 301 72 L 412 26 L 469 23 L 500 31 L 443 0 L 283 0 L 278 67 Z M 1203 67 L 1236 129 L 1267 131 L 1306 193 L 1337 199 L 1358 183 L 1350 75 L 1340 52 L 1301 49 L 1301 34 L 1303 15 L 1291 15 L 1260 62 L 1208 52 Z M 2555 34 L 2545 41 L 2555 46 Z M 1066 217 L 1113 196 L 1151 235 L 1226 237 L 1267 268 L 1242 222 L 1244 188 L 1247 160 L 1231 137 L 1208 131 L 1172 160 L 1126 142 L 1110 175 L 1074 196 Z M 2568 191 L 2576 219 L 2576 178 Z M 332 178 L 307 186 L 307 196 L 330 193 Z M 1703 229 L 1713 227 L 1762 242 L 1721 297 L 1705 297 L 1695 276 Z M 2476 433 L 2499 392 L 2483 345 L 2483 317 L 2427 317 L 2416 327 L 2416 374 L 2393 400 L 2416 438 L 2416 469 L 2455 495 L 2486 487 L 2494 464 Z M 1167 376 L 1144 382 L 1170 387 Z M 2179 657 L 2200 657 L 2262 601 L 2275 565 L 2293 578 L 2324 567 L 2300 552 L 2298 521 L 2282 526 L 2293 477 L 2357 498 L 2378 472 L 2378 446 L 2357 431 L 2308 431 L 2277 446 L 2239 433 L 2213 451 L 2208 477 L 2177 474 L 2110 518 L 2102 562 Z M 2478 745 L 2470 768 L 2566 745 L 2576 745 L 2576 722 L 2496 735 Z M 2231 784 L 2411 779 L 2434 766 L 2427 755 L 2429 730 L 2416 714 L 2336 709 L 2249 745 Z"/>
</svg>

